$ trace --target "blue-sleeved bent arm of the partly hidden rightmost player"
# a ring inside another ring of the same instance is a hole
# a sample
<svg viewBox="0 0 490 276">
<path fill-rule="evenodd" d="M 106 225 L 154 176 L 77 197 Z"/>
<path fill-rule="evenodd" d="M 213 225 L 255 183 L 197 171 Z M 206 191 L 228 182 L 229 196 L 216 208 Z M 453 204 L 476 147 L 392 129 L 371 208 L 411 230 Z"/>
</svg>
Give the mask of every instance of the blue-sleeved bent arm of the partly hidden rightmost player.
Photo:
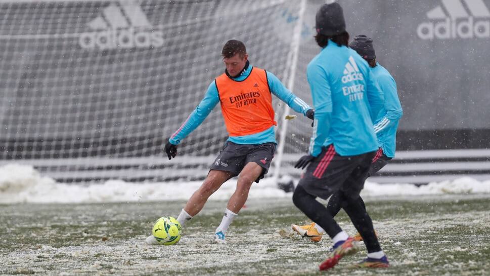
<svg viewBox="0 0 490 276">
<path fill-rule="evenodd" d="M 378 84 L 384 93 L 384 109 L 386 112 L 379 114 L 378 118 L 380 119 L 374 124 L 374 131 L 377 135 L 388 130 L 403 116 L 402 104 L 398 98 L 395 80 L 387 75 L 381 76 L 378 78 Z"/>
</svg>

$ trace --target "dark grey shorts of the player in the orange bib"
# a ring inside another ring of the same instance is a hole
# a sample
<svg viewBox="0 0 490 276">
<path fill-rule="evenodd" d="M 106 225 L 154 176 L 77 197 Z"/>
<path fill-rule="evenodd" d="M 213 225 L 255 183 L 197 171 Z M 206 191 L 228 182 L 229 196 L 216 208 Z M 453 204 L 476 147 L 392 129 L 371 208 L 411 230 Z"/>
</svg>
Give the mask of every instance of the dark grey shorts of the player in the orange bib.
<svg viewBox="0 0 490 276">
<path fill-rule="evenodd" d="M 237 176 L 249 162 L 255 162 L 263 168 L 260 176 L 255 180 L 258 183 L 271 167 L 276 143 L 264 143 L 258 145 L 236 144 L 230 141 L 225 143 L 225 147 L 219 151 L 218 157 L 211 165 L 211 170 L 227 171 Z"/>
</svg>

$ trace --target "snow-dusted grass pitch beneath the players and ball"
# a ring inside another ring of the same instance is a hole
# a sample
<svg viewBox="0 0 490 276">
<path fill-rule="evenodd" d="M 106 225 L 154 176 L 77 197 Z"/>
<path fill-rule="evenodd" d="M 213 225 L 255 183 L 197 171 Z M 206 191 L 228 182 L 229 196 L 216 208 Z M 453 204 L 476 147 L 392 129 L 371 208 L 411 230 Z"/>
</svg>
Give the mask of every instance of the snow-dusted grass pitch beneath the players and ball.
<svg viewBox="0 0 490 276">
<path fill-rule="evenodd" d="M 147 246 L 162 215 L 183 201 L 0 205 L 0 274 L 36 275 L 488 275 L 490 195 L 443 194 L 365 198 L 391 267 L 318 265 L 329 239 L 310 243 L 291 223 L 307 219 L 290 199 L 253 199 L 232 224 L 227 245 L 210 244 L 226 202 L 208 202 L 174 246 Z M 343 211 L 337 217 L 355 230 Z M 286 235 L 279 234 L 281 230 Z"/>
</svg>

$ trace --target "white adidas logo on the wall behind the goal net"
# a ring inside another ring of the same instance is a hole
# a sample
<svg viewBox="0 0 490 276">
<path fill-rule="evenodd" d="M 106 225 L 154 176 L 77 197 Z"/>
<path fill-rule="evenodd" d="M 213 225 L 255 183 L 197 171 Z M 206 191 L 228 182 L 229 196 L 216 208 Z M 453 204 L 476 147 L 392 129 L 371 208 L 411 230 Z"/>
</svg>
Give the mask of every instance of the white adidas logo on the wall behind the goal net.
<svg viewBox="0 0 490 276">
<path fill-rule="evenodd" d="M 154 28 L 135 2 L 111 4 L 87 23 L 91 32 L 80 35 L 83 49 L 131 49 L 163 46 L 163 31 Z"/>
</svg>

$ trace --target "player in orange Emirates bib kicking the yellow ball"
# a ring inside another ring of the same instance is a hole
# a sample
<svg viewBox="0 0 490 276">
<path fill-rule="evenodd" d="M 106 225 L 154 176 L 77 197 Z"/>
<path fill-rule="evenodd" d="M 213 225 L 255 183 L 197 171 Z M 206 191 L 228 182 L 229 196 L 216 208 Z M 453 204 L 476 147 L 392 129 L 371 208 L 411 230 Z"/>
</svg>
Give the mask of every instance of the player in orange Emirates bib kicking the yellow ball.
<svg viewBox="0 0 490 276">
<path fill-rule="evenodd" d="M 277 143 L 272 94 L 296 112 L 314 119 L 314 110 L 284 87 L 274 74 L 250 65 L 242 42 L 228 41 L 221 55 L 226 66 L 225 73 L 209 85 L 204 99 L 165 145 L 170 160 L 177 154 L 177 145 L 220 103 L 230 137 L 201 187 L 177 217 L 184 226 L 201 211 L 211 194 L 227 180 L 239 175 L 235 193 L 216 228 L 213 243 L 226 242 L 227 229 L 245 204 L 252 183 L 258 183 L 271 165 Z M 148 244 L 158 244 L 153 235 L 146 241 Z"/>
</svg>

